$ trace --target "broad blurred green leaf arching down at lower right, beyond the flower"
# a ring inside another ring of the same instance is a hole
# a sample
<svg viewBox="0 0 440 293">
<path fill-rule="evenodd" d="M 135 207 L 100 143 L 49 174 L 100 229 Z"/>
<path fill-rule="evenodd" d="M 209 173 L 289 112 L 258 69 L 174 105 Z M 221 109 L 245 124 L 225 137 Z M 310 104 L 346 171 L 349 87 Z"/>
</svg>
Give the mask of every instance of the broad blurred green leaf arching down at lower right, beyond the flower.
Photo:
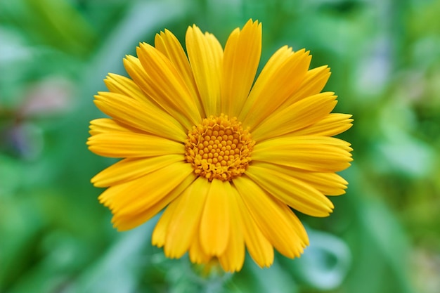
<svg viewBox="0 0 440 293">
<path fill-rule="evenodd" d="M 357 166 L 351 167 L 348 180 L 357 190 L 374 194 L 368 181 L 361 181 Z M 357 175 L 355 175 L 357 174 Z M 353 266 L 344 287 L 356 293 L 411 293 L 409 280 L 410 259 L 408 238 L 394 213 L 375 197 L 361 197 L 351 190 L 347 195 L 354 209 L 350 228 L 345 238 L 351 247 Z M 346 208 L 350 208 L 347 206 Z M 363 282 L 368 276 L 368 282 Z"/>
</svg>

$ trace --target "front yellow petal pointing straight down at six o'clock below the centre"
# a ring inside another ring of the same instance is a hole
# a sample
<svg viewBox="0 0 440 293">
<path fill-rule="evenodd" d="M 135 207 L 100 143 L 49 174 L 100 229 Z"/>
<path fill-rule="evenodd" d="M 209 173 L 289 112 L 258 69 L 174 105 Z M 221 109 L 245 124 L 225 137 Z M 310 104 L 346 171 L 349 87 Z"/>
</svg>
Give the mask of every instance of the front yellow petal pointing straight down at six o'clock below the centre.
<svg viewBox="0 0 440 293">
<path fill-rule="evenodd" d="M 220 256 L 228 245 L 230 207 L 226 195 L 228 181 L 214 179 L 209 183 L 205 207 L 200 220 L 200 244 L 208 255 Z"/>
</svg>

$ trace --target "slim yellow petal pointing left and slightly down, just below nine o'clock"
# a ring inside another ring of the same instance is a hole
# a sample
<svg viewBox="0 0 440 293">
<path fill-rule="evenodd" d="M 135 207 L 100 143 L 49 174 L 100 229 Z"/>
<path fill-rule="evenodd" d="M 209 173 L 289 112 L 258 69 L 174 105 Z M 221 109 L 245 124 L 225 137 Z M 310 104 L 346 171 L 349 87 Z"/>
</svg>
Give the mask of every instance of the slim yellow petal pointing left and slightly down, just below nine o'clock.
<svg viewBox="0 0 440 293">
<path fill-rule="evenodd" d="M 96 174 L 96 176 L 91 179 L 91 183 L 96 187 L 108 187 L 145 176 L 152 171 L 179 161 L 183 162 L 182 155 L 122 159 Z"/>
</svg>

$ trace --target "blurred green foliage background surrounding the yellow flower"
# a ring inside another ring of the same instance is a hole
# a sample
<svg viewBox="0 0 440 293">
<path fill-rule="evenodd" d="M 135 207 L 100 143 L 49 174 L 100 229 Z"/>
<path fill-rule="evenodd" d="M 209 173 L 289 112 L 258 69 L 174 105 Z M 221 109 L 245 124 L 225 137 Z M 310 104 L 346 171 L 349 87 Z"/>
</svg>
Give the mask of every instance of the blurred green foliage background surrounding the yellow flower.
<svg viewBox="0 0 440 293">
<path fill-rule="evenodd" d="M 0 1 L 0 292 L 440 292 L 440 1 Z M 269 269 L 200 278 L 150 245 L 155 221 L 117 233 L 90 178 L 93 94 L 139 41 L 196 23 L 225 44 L 263 22 L 261 63 L 288 44 L 332 68 L 354 115 L 354 164 L 311 246 Z"/>
</svg>

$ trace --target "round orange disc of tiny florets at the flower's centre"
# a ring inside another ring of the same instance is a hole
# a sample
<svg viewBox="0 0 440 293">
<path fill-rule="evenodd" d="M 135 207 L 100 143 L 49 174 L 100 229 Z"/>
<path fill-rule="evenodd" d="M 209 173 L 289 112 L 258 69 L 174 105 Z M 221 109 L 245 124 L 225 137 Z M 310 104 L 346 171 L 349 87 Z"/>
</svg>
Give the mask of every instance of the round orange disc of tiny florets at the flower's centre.
<svg viewBox="0 0 440 293">
<path fill-rule="evenodd" d="M 188 131 L 185 158 L 195 174 L 209 181 L 231 181 L 246 171 L 254 145 L 249 131 L 237 118 L 211 115 Z"/>
</svg>

